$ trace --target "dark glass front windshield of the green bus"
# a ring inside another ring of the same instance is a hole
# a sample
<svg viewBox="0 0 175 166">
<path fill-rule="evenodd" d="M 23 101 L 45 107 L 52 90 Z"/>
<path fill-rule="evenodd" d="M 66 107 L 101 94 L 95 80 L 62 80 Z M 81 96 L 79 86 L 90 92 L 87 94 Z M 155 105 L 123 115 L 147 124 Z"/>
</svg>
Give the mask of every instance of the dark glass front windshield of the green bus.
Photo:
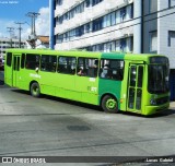
<svg viewBox="0 0 175 166">
<path fill-rule="evenodd" d="M 149 83 L 148 91 L 150 93 L 168 92 L 168 67 L 165 64 L 149 66 Z"/>
</svg>

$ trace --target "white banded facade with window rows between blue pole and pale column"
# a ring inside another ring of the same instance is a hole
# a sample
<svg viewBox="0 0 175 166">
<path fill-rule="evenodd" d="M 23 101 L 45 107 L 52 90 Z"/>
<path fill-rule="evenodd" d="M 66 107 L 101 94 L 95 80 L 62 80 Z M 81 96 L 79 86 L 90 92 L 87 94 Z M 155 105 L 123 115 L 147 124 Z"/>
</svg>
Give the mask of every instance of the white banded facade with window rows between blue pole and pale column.
<svg viewBox="0 0 175 166">
<path fill-rule="evenodd" d="M 55 49 L 133 50 L 132 0 L 58 0 L 55 21 Z"/>
</svg>

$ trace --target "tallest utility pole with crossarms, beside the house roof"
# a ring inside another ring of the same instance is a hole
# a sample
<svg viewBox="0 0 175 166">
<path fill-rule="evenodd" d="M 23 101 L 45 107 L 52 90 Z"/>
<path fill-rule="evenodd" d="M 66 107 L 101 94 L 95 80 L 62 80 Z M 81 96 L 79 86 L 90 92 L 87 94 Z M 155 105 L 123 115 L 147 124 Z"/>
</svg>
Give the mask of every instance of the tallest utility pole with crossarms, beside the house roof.
<svg viewBox="0 0 175 166">
<path fill-rule="evenodd" d="M 40 15 L 39 13 L 35 12 L 28 12 L 26 16 L 31 17 L 32 20 L 32 27 L 31 27 L 31 36 L 28 37 L 28 40 L 31 43 L 32 48 L 35 48 L 35 42 L 36 42 L 36 31 L 35 31 L 35 20 L 36 17 Z"/>
</svg>

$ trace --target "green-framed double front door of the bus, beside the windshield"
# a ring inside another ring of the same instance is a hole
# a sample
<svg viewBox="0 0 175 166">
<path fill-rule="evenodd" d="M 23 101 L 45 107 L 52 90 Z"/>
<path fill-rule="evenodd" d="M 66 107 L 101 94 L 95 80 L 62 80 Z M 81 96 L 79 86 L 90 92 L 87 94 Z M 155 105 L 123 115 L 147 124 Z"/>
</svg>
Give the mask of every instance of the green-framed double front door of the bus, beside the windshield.
<svg viewBox="0 0 175 166">
<path fill-rule="evenodd" d="M 129 111 L 142 110 L 142 83 L 144 64 L 130 64 L 128 78 L 128 102 Z"/>
</svg>

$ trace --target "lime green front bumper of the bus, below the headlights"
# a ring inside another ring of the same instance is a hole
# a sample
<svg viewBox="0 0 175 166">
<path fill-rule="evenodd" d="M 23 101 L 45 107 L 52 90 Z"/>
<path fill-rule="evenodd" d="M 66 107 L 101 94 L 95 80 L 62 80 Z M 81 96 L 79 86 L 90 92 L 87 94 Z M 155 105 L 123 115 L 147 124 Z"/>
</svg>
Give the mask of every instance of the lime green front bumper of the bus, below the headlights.
<svg viewBox="0 0 175 166">
<path fill-rule="evenodd" d="M 170 107 L 170 103 L 163 104 L 161 106 L 145 106 L 144 114 L 145 116 L 158 114 L 160 111 L 166 110 Z"/>
</svg>

